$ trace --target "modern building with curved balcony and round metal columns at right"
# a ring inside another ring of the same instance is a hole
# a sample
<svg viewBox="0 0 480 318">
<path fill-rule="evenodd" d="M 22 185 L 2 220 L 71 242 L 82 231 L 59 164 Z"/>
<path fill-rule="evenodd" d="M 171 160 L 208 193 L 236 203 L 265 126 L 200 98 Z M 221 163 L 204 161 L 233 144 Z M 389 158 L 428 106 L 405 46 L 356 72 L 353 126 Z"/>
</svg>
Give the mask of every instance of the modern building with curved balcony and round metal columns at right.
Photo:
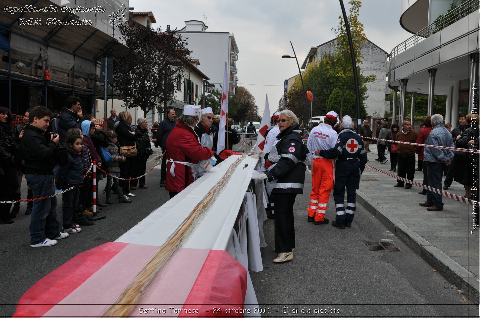
<svg viewBox="0 0 480 318">
<path fill-rule="evenodd" d="M 453 3 L 453 4 L 452 4 Z M 415 114 L 416 93 L 446 96 L 445 122 L 458 125 L 458 114 L 478 112 L 479 0 L 402 0 L 400 25 L 414 34 L 390 53 L 388 85 L 401 91 L 394 114 Z M 412 104 L 406 105 L 406 93 Z M 476 101 L 475 101 L 476 98 Z M 393 120 L 396 120 L 394 116 Z"/>
</svg>

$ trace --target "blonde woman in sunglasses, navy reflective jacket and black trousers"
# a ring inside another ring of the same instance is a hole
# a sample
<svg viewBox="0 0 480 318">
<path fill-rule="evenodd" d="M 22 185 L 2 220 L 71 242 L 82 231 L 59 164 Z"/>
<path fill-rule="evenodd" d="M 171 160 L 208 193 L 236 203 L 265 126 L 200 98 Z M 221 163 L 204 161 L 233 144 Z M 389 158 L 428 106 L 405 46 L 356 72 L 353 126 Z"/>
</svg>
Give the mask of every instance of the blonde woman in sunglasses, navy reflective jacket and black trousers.
<svg viewBox="0 0 480 318">
<path fill-rule="evenodd" d="M 278 128 L 280 134 L 269 153 L 263 150 L 259 156 L 274 164 L 258 179 L 267 180 L 267 192 L 275 208 L 275 252 L 274 262 L 293 259 L 295 248 L 295 228 L 293 224 L 293 204 L 297 194 L 303 193 L 305 182 L 305 159 L 307 146 L 300 137 L 299 120 L 290 110 L 280 113 Z"/>
</svg>

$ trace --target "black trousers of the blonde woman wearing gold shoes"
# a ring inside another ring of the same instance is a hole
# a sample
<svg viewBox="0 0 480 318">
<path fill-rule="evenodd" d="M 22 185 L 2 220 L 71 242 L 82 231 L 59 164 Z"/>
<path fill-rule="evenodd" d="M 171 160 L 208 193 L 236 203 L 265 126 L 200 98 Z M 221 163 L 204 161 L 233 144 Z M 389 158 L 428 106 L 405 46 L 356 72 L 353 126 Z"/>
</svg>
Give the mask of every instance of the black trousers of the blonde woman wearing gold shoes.
<svg viewBox="0 0 480 318">
<path fill-rule="evenodd" d="M 295 227 L 293 224 L 293 204 L 297 193 L 272 194 L 275 203 L 275 251 L 291 252 L 295 248 Z"/>
</svg>

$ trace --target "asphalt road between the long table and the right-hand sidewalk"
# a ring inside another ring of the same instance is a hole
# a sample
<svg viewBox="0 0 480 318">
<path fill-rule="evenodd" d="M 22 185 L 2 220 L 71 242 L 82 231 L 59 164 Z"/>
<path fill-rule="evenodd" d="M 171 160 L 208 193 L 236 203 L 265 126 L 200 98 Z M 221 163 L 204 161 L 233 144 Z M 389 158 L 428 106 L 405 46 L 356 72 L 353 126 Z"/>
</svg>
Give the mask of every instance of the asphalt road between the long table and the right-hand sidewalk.
<svg viewBox="0 0 480 318">
<path fill-rule="evenodd" d="M 264 223 L 264 271 L 250 271 L 264 316 L 479 317 L 478 306 L 459 295 L 363 207 L 357 205 L 352 227 L 344 230 L 307 222 L 308 173 L 307 193 L 298 195 L 294 206 L 292 261 L 272 262 L 274 220 Z M 336 215 L 333 196 L 330 202 L 326 216 L 331 223 Z M 364 241 L 393 242 L 401 251 L 371 251 Z M 288 312 L 282 311 L 286 307 Z"/>
</svg>

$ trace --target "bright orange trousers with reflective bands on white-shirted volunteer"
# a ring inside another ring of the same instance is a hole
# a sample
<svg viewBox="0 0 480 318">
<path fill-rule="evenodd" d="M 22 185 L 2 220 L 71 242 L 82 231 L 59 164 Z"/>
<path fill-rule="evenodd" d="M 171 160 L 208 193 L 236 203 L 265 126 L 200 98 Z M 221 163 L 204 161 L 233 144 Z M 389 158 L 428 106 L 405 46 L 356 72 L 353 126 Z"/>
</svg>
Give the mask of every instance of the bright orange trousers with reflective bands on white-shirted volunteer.
<svg viewBox="0 0 480 318">
<path fill-rule="evenodd" d="M 308 216 L 315 216 L 315 221 L 323 221 L 330 192 L 333 189 L 332 159 L 313 159 L 312 193 L 308 203 Z"/>
</svg>

